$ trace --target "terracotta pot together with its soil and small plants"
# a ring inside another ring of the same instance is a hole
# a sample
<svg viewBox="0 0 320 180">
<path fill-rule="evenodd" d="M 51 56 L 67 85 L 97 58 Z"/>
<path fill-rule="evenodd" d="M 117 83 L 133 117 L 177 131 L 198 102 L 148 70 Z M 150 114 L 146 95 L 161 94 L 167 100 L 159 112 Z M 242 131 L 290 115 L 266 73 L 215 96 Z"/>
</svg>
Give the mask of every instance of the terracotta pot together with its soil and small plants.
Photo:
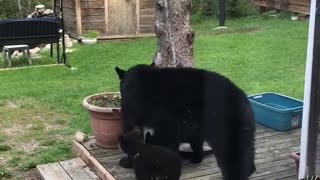
<svg viewBox="0 0 320 180">
<path fill-rule="evenodd" d="M 107 92 L 90 95 L 82 102 L 89 112 L 92 132 L 100 147 L 118 147 L 118 137 L 122 133 L 120 100 L 120 93 Z"/>
</svg>

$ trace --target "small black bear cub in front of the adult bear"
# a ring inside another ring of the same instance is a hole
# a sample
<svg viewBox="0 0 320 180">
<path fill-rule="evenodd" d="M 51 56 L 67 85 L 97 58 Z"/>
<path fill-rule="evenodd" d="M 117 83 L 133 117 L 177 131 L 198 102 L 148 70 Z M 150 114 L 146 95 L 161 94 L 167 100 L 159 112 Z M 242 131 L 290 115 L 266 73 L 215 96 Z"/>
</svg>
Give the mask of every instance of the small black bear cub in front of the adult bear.
<svg viewBox="0 0 320 180">
<path fill-rule="evenodd" d="M 182 166 L 179 154 L 162 146 L 144 144 L 141 132 L 121 135 L 119 147 L 131 157 L 137 180 L 179 180 Z"/>
</svg>

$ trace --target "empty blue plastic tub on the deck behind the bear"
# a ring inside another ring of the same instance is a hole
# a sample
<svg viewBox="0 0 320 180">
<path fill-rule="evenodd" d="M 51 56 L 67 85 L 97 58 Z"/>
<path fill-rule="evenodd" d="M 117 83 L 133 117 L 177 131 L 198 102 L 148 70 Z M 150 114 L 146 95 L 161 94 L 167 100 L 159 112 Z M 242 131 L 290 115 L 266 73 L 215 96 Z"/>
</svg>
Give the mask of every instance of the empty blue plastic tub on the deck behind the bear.
<svg viewBox="0 0 320 180">
<path fill-rule="evenodd" d="M 301 127 L 302 101 L 271 92 L 248 98 L 257 123 L 279 131 Z"/>
</svg>

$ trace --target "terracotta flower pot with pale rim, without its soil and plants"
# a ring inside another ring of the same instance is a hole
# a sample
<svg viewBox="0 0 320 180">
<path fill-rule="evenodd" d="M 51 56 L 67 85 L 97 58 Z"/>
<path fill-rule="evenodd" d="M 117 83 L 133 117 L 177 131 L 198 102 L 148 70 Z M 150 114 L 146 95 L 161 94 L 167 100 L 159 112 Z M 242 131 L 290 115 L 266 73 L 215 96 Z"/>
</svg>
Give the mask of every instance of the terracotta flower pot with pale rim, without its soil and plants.
<svg viewBox="0 0 320 180">
<path fill-rule="evenodd" d="M 99 93 L 86 97 L 82 105 L 88 110 L 90 124 L 96 144 L 104 148 L 117 148 L 118 137 L 122 133 L 120 121 L 120 107 L 107 108 L 98 107 L 88 103 L 88 100 L 101 95 L 113 97 L 120 95 L 117 92 Z"/>
</svg>

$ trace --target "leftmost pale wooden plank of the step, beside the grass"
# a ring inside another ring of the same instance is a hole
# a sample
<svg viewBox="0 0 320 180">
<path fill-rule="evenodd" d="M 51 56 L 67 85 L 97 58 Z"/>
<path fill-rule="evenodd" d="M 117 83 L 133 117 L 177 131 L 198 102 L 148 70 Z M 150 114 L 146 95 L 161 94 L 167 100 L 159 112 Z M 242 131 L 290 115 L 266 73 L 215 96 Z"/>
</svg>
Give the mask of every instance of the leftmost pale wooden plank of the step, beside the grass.
<svg viewBox="0 0 320 180">
<path fill-rule="evenodd" d="M 59 163 L 37 165 L 37 169 L 45 180 L 71 180 Z"/>
</svg>

